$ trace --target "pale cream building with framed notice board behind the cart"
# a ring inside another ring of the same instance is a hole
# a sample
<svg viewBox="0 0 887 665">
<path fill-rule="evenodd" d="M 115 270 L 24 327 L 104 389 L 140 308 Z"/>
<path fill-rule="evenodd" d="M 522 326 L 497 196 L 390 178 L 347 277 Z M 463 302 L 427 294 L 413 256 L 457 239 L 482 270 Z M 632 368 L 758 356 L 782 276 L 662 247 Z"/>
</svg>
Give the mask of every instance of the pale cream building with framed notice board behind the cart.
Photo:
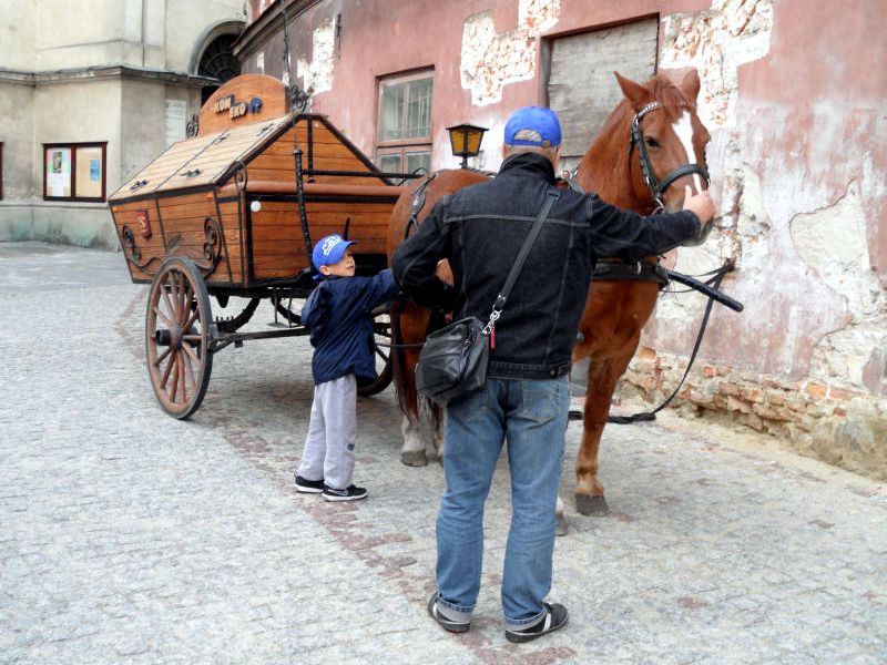
<svg viewBox="0 0 887 665">
<path fill-rule="evenodd" d="M 4 0 L 0 241 L 118 248 L 108 195 L 185 137 L 242 0 Z"/>
</svg>

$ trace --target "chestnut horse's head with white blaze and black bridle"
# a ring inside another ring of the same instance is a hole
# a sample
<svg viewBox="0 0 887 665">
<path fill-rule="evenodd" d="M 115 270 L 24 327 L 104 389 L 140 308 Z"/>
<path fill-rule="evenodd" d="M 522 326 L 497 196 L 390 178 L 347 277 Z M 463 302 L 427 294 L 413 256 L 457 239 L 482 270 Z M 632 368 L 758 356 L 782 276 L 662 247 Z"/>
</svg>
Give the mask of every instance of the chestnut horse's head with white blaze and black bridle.
<svg viewBox="0 0 887 665">
<path fill-rule="evenodd" d="M 680 85 L 664 74 L 643 85 L 615 76 L 632 116 L 629 168 L 634 188 L 649 190 L 659 207 L 681 209 L 685 186 L 694 193 L 708 188 L 705 145 L 711 136 L 696 115 L 699 74 L 690 70 Z"/>
</svg>

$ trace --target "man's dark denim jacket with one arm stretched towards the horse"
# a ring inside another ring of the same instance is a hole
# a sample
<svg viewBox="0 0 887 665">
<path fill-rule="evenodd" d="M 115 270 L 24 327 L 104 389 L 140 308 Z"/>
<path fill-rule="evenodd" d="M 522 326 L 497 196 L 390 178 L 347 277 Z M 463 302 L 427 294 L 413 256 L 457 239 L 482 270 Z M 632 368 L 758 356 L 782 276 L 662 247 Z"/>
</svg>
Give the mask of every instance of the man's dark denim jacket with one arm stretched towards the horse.
<svg viewBox="0 0 887 665">
<path fill-rule="evenodd" d="M 392 257 L 400 288 L 419 305 L 486 321 L 554 180 L 549 160 L 521 153 L 506 160 L 496 178 L 442 198 Z M 635 262 L 699 229 L 691 212 L 642 217 L 597 194 L 560 192 L 496 324 L 488 376 L 538 379 L 568 371 L 598 258 Z M 452 266 L 455 287 L 435 276 L 441 258 Z"/>
</svg>

